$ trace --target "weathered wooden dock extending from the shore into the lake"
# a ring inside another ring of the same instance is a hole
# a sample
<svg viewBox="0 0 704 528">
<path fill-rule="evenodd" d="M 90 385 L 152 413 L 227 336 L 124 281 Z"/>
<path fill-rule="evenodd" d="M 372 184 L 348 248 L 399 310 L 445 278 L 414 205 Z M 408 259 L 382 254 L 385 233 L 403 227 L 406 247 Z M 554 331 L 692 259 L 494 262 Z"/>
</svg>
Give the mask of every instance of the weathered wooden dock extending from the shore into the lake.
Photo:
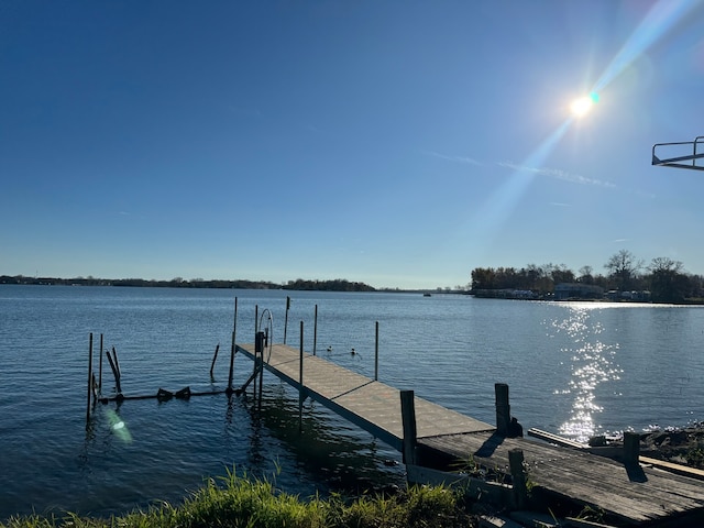
<svg viewBox="0 0 704 528">
<path fill-rule="evenodd" d="M 235 350 L 254 361 L 261 358 L 253 344 Z M 535 495 L 603 512 L 619 526 L 704 526 L 702 481 L 585 450 L 506 438 L 494 426 L 418 397 L 413 398 L 415 438 L 409 439 L 402 418 L 402 391 L 284 344 L 268 346 L 264 359 L 264 369 L 298 389 L 301 403 L 307 397 L 320 402 L 404 452 L 409 470 L 425 466 L 437 475 L 443 464 L 471 461 L 508 474 L 510 453 L 520 450 Z"/>
</svg>

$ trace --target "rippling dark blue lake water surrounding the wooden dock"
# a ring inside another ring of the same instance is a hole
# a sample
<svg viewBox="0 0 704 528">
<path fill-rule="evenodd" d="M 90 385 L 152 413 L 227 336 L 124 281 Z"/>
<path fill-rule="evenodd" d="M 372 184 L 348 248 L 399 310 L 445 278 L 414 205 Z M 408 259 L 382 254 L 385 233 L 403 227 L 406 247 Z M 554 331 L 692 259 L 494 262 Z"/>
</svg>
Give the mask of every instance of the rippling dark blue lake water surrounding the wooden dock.
<svg viewBox="0 0 704 528">
<path fill-rule="evenodd" d="M 512 411 L 584 440 L 595 433 L 704 419 L 704 310 L 635 304 L 534 302 L 459 295 L 340 294 L 117 287 L 0 286 L 0 519 L 13 514 L 109 515 L 177 503 L 228 470 L 268 476 L 292 493 L 356 492 L 402 483 L 400 457 L 307 402 L 270 374 L 251 396 L 98 404 L 86 427 L 88 336 L 114 346 L 125 395 L 160 387 L 227 387 L 237 340 L 253 342 L 254 312 L 273 315 L 274 341 L 493 424 L 494 384 Z M 220 353 L 215 380 L 210 364 Z M 327 352 L 328 346 L 332 352 Z M 351 355 L 354 348 L 358 354 Z M 234 386 L 252 372 L 237 356 Z M 114 380 L 103 356 L 103 394 Z"/>
</svg>

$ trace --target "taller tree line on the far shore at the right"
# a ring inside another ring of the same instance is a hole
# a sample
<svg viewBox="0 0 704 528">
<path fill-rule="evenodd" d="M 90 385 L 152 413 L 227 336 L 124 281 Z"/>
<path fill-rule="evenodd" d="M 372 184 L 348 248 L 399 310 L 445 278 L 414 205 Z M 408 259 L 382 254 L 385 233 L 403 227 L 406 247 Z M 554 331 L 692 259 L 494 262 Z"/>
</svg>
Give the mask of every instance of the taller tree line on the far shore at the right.
<svg viewBox="0 0 704 528">
<path fill-rule="evenodd" d="M 604 274 L 583 266 L 575 274 L 564 264 L 529 264 L 515 267 L 476 267 L 472 271 L 472 290 L 519 289 L 539 296 L 550 295 L 561 283 L 582 283 L 605 292 L 649 292 L 653 302 L 701 301 L 704 298 L 704 276 L 689 274 L 680 261 L 667 256 L 649 264 L 630 251 L 620 250 L 604 264 Z"/>
</svg>

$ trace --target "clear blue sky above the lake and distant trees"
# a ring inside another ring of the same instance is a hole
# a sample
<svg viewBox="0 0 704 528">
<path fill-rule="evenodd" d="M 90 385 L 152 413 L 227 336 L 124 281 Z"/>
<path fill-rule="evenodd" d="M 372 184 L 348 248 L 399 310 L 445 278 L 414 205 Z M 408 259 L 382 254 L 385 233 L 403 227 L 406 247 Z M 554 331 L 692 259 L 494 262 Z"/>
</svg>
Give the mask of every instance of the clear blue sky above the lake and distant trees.
<svg viewBox="0 0 704 528">
<path fill-rule="evenodd" d="M 701 1 L 7 0 L 0 274 L 702 274 L 703 95 Z"/>
</svg>

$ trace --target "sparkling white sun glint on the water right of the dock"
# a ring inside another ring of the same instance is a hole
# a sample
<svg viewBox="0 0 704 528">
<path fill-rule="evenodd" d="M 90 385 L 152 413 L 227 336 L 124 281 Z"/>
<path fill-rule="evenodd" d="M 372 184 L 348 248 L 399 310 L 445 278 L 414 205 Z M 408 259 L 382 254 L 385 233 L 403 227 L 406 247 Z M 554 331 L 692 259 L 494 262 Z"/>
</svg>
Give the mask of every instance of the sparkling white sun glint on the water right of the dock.
<svg viewBox="0 0 704 528">
<path fill-rule="evenodd" d="M 619 345 L 602 341 L 604 328 L 592 318 L 594 309 L 598 308 L 575 305 L 569 308 L 564 319 L 546 321 L 548 336 L 562 338 L 559 362 L 570 370 L 566 387 L 554 391 L 571 407 L 569 419 L 559 426 L 559 431 L 580 442 L 587 441 L 598 430 L 596 415 L 604 408 L 597 400 L 597 389 L 619 380 L 623 372 L 616 363 Z"/>
</svg>

